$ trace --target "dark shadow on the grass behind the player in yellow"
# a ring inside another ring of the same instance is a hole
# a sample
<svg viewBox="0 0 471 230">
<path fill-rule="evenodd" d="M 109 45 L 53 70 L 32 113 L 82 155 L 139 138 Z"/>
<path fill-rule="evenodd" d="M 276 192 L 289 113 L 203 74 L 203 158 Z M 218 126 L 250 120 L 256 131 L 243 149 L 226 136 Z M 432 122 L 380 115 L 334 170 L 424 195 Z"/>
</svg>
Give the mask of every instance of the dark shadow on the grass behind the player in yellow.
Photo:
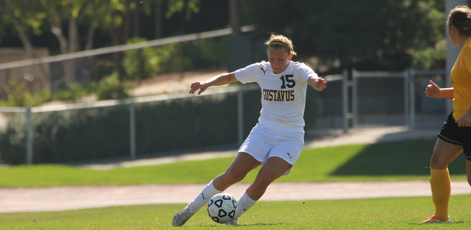
<svg viewBox="0 0 471 230">
<path fill-rule="evenodd" d="M 429 175 L 436 139 L 415 139 L 368 145 L 333 171 L 332 175 Z M 449 166 L 450 174 L 466 174 L 461 153 Z"/>
</svg>

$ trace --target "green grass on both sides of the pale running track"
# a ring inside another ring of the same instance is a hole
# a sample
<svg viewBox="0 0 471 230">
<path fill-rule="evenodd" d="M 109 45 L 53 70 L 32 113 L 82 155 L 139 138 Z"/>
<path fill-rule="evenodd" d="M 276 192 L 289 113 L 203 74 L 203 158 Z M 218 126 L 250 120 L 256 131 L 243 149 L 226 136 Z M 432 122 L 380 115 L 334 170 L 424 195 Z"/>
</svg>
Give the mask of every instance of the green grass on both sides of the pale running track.
<svg viewBox="0 0 471 230">
<path fill-rule="evenodd" d="M 305 150 L 292 173 L 277 182 L 428 180 L 435 140 L 408 140 Z M 0 187 L 207 183 L 233 158 L 98 171 L 60 165 L 0 169 Z M 465 179 L 463 155 L 449 166 Z M 251 182 L 258 170 L 244 179 Z M 179 229 L 421 230 L 471 229 L 471 196 L 450 199 L 451 223 L 417 224 L 433 214 L 430 197 L 258 202 L 238 226 L 212 222 L 205 210 Z M 63 212 L 0 213 L 0 230 L 176 229 L 173 215 L 184 204 L 119 206 Z M 203 208 L 204 209 L 204 208 Z"/>
</svg>

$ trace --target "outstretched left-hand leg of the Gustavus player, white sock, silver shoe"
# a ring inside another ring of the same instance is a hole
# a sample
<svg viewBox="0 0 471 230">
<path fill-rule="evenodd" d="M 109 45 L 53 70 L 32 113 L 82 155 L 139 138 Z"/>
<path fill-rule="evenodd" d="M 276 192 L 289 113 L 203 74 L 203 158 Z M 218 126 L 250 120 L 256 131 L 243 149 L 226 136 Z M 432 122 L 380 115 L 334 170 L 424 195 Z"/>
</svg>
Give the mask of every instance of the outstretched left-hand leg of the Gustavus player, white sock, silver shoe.
<svg viewBox="0 0 471 230">
<path fill-rule="evenodd" d="M 258 167 L 260 164 L 260 161 L 255 160 L 251 155 L 245 152 L 237 153 L 237 156 L 227 168 L 226 172 L 220 174 L 209 182 L 193 201 L 191 201 L 180 212 L 175 214 L 172 225 L 182 226 L 185 224 L 193 214 L 208 204 L 209 198 L 223 192 L 229 186 L 242 181 L 247 173 Z"/>
</svg>

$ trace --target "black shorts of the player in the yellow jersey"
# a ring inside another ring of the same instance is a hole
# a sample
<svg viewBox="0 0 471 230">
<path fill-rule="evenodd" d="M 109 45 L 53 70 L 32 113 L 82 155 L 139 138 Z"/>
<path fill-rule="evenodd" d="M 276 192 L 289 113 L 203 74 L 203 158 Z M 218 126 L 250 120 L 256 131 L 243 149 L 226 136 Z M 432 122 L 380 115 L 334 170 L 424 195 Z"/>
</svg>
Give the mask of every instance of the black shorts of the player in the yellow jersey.
<svg viewBox="0 0 471 230">
<path fill-rule="evenodd" d="M 466 159 L 471 160 L 471 127 L 458 127 L 453 112 L 448 115 L 447 122 L 437 136 L 447 143 L 462 145 Z"/>
</svg>

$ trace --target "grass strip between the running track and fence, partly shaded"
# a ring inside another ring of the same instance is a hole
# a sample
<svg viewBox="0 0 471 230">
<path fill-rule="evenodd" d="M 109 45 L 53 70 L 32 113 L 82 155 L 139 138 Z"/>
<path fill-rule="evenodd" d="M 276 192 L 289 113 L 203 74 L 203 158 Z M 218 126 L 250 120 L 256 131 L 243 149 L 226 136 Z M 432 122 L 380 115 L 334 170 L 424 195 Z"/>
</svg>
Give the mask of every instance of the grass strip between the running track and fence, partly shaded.
<svg viewBox="0 0 471 230">
<path fill-rule="evenodd" d="M 428 180 L 435 140 L 408 140 L 311 149 L 302 152 L 292 172 L 276 182 Z M 233 158 L 116 168 L 108 171 L 61 165 L 0 169 L 0 187 L 207 183 Z M 452 180 L 466 179 L 460 155 L 449 166 Z M 258 169 L 243 182 L 252 182 Z"/>
</svg>

